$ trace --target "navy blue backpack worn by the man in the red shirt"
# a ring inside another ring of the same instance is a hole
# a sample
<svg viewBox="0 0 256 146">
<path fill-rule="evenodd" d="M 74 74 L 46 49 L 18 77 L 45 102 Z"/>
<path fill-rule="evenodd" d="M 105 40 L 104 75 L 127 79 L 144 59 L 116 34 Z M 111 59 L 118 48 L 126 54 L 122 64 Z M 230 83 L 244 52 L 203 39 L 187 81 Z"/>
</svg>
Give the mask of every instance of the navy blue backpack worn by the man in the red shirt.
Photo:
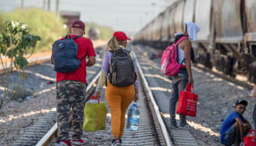
<svg viewBox="0 0 256 146">
<path fill-rule="evenodd" d="M 69 35 L 64 39 L 57 40 L 53 43 L 52 54 L 54 71 L 56 72 L 75 72 L 83 60 L 78 59 L 78 44 L 74 39 L 80 36 L 71 38 Z"/>
</svg>

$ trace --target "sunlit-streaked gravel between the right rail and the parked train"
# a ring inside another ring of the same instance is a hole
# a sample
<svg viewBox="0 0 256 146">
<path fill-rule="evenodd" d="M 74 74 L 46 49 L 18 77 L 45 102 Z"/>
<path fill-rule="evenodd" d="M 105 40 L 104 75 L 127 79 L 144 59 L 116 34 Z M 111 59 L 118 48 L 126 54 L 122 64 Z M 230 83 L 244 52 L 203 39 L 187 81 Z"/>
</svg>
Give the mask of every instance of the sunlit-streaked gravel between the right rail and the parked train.
<svg viewBox="0 0 256 146">
<path fill-rule="evenodd" d="M 168 118 L 168 98 L 171 93 L 171 80 L 160 71 L 158 51 L 151 47 L 132 46 L 138 55 L 140 66 L 146 72 L 146 79 L 157 98 L 160 110 L 165 118 Z M 237 99 L 246 99 L 249 105 L 244 112 L 244 118 L 253 126 L 252 112 L 256 99 L 250 96 L 248 88 L 236 85 L 233 82 L 204 72 L 201 69 L 192 68 L 195 93 L 198 94 L 197 117 L 188 117 L 189 124 L 195 129 L 189 130 L 195 138 L 197 145 L 221 145 L 219 143 L 219 128 L 228 113 L 234 110 L 233 104 Z M 159 86 L 155 86 L 159 85 Z M 167 121 L 168 122 L 168 121 Z"/>
</svg>

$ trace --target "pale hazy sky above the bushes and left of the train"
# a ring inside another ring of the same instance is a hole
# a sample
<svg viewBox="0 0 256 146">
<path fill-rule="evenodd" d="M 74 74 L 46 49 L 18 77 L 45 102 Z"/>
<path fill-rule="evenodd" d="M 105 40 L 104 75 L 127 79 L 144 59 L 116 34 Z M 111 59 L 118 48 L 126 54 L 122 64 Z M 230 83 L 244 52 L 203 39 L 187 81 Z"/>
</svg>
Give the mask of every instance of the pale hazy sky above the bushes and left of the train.
<svg viewBox="0 0 256 146">
<path fill-rule="evenodd" d="M 0 11 L 10 12 L 22 0 L 0 0 Z M 45 8 L 44 8 L 45 1 Z M 23 7 L 47 9 L 48 0 L 23 0 Z M 134 34 L 164 11 L 174 0 L 59 0 L 59 12 L 79 11 L 80 20 L 110 26 L 115 31 Z M 56 0 L 50 0 L 56 12 Z"/>
</svg>

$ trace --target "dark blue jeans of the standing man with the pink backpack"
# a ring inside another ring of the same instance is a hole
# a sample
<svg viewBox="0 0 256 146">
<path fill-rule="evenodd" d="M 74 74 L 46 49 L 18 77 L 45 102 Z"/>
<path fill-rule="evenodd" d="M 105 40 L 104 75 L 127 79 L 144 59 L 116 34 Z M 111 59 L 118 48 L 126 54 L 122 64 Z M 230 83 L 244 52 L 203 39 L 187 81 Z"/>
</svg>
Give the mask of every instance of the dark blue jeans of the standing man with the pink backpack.
<svg viewBox="0 0 256 146">
<path fill-rule="evenodd" d="M 176 76 L 173 77 L 172 81 L 172 93 L 170 96 L 169 101 L 169 112 L 170 112 L 170 123 L 176 124 L 176 103 L 178 101 L 178 96 L 180 91 L 184 91 L 187 87 L 187 84 L 189 82 L 189 76 L 184 73 L 178 73 Z M 180 125 L 184 125 L 187 123 L 186 115 L 179 115 L 180 117 Z"/>
</svg>

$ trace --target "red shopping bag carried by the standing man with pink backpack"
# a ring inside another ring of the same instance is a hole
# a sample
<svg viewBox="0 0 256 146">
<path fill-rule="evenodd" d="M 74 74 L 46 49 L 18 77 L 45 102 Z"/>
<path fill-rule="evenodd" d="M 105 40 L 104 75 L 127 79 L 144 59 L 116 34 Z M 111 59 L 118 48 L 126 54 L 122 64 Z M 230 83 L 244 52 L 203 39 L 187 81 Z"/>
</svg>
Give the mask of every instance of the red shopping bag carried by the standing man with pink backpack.
<svg viewBox="0 0 256 146">
<path fill-rule="evenodd" d="M 180 91 L 178 97 L 178 107 L 176 112 L 181 115 L 195 117 L 197 115 L 197 94 L 191 92 L 193 85 L 187 84 L 185 91 Z"/>
</svg>

